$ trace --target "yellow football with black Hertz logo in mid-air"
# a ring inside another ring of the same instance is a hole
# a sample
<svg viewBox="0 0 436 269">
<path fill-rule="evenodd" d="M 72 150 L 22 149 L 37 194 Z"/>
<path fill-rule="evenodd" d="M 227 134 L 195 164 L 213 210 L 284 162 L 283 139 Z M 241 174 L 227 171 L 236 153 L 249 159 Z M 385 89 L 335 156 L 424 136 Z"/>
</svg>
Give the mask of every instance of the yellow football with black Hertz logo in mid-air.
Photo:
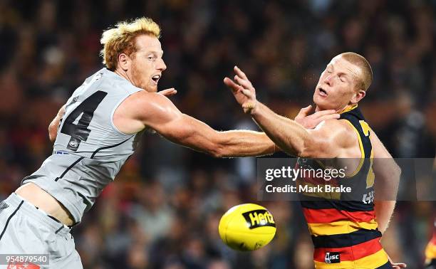
<svg viewBox="0 0 436 269">
<path fill-rule="evenodd" d="M 219 236 L 235 250 L 256 250 L 266 246 L 276 234 L 271 213 L 257 204 L 240 204 L 221 217 Z"/>
</svg>

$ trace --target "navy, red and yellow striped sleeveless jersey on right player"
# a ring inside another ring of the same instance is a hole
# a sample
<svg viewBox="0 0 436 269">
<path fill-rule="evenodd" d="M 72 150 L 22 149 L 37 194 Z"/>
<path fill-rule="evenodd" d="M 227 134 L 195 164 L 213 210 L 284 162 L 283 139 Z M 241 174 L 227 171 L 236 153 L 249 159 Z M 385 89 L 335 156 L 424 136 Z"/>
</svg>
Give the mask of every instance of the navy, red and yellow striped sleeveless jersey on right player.
<svg viewBox="0 0 436 269">
<path fill-rule="evenodd" d="M 341 197 L 346 194 L 301 195 L 303 214 L 315 248 L 315 268 L 392 268 L 380 244 L 381 233 L 375 221 L 370 128 L 357 105 L 344 110 L 341 119 L 347 120 L 358 135 L 361 158 L 355 172 L 329 184 L 353 186 L 358 189 L 360 199 Z M 300 158 L 297 162 L 297 167 L 307 166 L 325 169 L 319 160 Z M 314 181 L 316 179 L 303 177 L 297 184 L 313 186 Z"/>
</svg>

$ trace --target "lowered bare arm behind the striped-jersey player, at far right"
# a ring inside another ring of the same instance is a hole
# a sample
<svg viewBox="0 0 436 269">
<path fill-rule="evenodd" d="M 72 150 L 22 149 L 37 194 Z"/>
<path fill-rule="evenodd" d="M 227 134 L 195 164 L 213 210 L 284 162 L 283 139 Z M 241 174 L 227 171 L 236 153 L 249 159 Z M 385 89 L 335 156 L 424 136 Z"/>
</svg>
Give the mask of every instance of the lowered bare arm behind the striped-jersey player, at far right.
<svg viewBox="0 0 436 269">
<path fill-rule="evenodd" d="M 374 132 L 371 132 L 370 139 L 374 151 L 375 217 L 378 229 L 384 233 L 395 209 L 401 169 Z"/>
</svg>

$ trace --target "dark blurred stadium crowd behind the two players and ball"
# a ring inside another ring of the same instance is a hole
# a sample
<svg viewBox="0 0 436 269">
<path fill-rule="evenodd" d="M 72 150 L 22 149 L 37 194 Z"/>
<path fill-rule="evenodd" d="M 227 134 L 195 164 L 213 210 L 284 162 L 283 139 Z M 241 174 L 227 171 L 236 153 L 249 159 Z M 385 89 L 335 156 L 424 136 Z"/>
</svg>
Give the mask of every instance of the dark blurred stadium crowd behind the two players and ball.
<svg viewBox="0 0 436 269">
<path fill-rule="evenodd" d="M 0 199 L 51 154 L 47 127 L 102 67 L 103 29 L 150 16 L 162 27 L 177 107 L 217 130 L 256 129 L 223 83 L 239 65 L 259 99 L 294 117 L 337 53 L 363 54 L 374 81 L 361 103 L 394 157 L 434 157 L 436 1 L 0 0 Z M 146 109 L 146 107 L 145 107 Z M 85 268 L 311 268 L 299 204 L 263 203 L 277 236 L 253 253 L 219 240 L 229 207 L 256 201 L 255 159 L 213 159 L 148 134 L 73 229 Z M 432 204 L 400 202 L 383 243 L 421 268 Z"/>
</svg>

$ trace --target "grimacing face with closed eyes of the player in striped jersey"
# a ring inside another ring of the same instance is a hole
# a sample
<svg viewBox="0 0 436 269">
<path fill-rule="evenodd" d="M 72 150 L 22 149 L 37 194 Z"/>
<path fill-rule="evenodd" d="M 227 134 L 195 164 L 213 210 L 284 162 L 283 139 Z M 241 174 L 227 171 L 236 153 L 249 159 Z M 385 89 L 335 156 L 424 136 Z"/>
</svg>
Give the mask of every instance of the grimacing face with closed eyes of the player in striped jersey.
<svg viewBox="0 0 436 269">
<path fill-rule="evenodd" d="M 336 56 L 321 73 L 313 93 L 313 102 L 317 110 L 341 111 L 355 101 L 355 79 L 360 77 L 360 68 L 353 63 Z"/>
</svg>

